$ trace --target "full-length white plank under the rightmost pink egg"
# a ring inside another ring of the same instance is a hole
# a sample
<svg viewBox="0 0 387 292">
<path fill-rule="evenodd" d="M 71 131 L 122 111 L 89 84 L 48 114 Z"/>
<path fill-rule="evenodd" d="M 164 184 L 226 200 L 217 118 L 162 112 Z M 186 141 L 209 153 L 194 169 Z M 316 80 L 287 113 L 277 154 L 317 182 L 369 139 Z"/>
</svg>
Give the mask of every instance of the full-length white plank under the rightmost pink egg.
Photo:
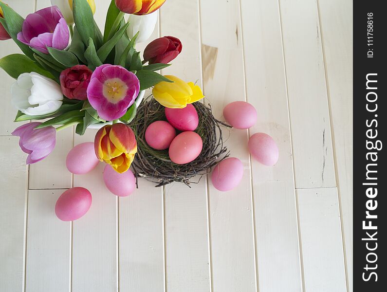
<svg viewBox="0 0 387 292">
<path fill-rule="evenodd" d="M 278 2 L 241 1 L 247 101 L 258 111 L 250 135 L 279 147 L 267 167 L 252 160 L 259 291 L 301 291 L 289 112 Z M 280 267 L 280 269 L 278 269 Z"/>
</svg>

